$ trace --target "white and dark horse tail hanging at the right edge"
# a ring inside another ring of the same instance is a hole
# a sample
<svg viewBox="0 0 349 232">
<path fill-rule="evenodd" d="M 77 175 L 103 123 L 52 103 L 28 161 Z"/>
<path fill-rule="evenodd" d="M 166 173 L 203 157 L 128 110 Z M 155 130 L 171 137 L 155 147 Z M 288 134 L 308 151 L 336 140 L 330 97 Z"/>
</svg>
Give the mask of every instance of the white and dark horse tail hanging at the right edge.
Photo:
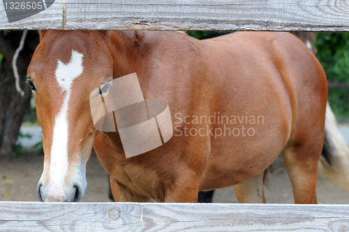
<svg viewBox="0 0 349 232">
<path fill-rule="evenodd" d="M 344 189 L 349 188 L 349 148 L 337 129 L 337 121 L 327 102 L 325 116 L 325 141 L 318 169 L 329 180 Z"/>
</svg>

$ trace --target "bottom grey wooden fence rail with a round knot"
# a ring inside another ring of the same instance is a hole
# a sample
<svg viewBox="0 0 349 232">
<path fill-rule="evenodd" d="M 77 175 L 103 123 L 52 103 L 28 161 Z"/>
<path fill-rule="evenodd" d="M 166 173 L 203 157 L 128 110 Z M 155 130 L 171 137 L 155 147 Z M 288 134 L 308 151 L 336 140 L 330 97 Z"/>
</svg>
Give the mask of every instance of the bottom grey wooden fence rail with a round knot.
<svg viewBox="0 0 349 232">
<path fill-rule="evenodd" d="M 119 219 L 110 218 L 111 209 L 119 210 Z M 348 231 L 348 226 L 348 205 L 0 202 L 0 231 Z"/>
</svg>

